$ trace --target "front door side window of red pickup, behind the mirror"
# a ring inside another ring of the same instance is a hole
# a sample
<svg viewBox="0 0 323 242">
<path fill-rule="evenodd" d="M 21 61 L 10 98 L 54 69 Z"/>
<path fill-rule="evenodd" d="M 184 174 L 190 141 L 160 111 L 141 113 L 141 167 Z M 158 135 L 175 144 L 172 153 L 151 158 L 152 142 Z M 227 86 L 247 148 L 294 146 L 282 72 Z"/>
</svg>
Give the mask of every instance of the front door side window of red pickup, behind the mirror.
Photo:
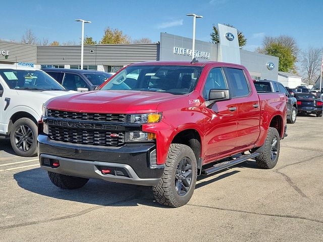
<svg viewBox="0 0 323 242">
<path fill-rule="evenodd" d="M 208 73 L 203 89 L 203 98 L 205 100 L 208 100 L 208 94 L 211 89 L 228 89 L 222 68 L 213 68 Z"/>
</svg>

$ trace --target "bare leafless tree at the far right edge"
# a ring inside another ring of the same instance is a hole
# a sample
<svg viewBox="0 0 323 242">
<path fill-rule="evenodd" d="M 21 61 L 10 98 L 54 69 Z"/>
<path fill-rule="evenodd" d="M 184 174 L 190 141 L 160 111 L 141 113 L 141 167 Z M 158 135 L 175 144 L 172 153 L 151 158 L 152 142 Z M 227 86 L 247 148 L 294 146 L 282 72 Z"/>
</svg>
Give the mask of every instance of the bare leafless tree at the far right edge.
<svg viewBox="0 0 323 242">
<path fill-rule="evenodd" d="M 309 46 L 301 53 L 301 68 L 304 72 L 304 80 L 312 85 L 320 72 L 321 49 Z"/>
</svg>

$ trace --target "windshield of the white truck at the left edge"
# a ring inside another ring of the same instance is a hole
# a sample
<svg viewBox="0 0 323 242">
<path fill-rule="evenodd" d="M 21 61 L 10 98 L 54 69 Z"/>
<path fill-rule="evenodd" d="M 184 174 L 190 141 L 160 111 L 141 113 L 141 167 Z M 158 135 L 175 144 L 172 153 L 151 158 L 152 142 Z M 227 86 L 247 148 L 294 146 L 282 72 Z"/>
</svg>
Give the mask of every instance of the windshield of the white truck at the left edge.
<svg viewBox="0 0 323 242">
<path fill-rule="evenodd" d="M 39 70 L 1 69 L 0 76 L 10 89 L 65 90 L 57 81 Z"/>
</svg>

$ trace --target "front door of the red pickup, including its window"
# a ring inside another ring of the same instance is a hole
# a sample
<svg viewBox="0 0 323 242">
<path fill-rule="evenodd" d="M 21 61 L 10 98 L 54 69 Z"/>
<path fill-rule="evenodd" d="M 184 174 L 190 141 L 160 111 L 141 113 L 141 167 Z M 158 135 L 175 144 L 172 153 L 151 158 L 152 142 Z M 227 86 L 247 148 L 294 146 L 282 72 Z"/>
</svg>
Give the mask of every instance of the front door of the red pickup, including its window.
<svg viewBox="0 0 323 242">
<path fill-rule="evenodd" d="M 229 89 L 222 68 L 210 69 L 203 88 L 203 98 L 208 100 L 210 89 Z M 237 141 L 237 103 L 235 99 L 215 102 L 204 107 L 206 150 L 204 163 L 234 153 Z"/>
</svg>

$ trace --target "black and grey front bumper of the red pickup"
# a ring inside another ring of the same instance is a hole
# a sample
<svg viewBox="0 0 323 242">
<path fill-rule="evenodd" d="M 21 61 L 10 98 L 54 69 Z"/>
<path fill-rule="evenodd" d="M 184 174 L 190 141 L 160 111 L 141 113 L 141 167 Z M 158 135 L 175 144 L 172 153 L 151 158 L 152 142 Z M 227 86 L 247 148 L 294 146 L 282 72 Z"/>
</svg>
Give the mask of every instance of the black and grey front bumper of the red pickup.
<svg viewBox="0 0 323 242">
<path fill-rule="evenodd" d="M 122 147 L 76 145 L 51 141 L 38 136 L 38 154 L 41 168 L 65 175 L 99 178 L 107 181 L 142 186 L 155 186 L 163 175 L 164 165 L 151 165 L 150 153 L 155 144 L 126 144 Z M 44 159 L 59 161 L 52 167 Z M 111 169 L 109 174 L 102 169 Z"/>
</svg>

